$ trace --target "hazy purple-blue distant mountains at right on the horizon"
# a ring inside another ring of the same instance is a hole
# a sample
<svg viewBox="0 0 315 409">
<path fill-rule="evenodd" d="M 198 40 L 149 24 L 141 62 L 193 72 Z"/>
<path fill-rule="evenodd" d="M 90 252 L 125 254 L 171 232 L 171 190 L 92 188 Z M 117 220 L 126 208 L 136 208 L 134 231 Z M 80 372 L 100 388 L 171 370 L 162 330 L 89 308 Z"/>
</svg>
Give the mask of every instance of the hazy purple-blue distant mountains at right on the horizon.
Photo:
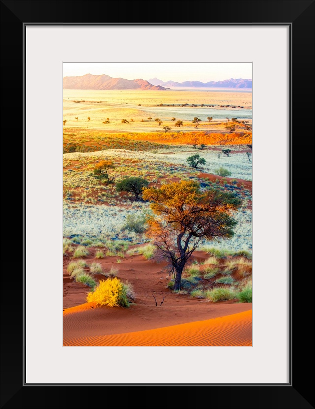
<svg viewBox="0 0 315 409">
<path fill-rule="evenodd" d="M 162 87 L 207 87 L 207 88 L 252 88 L 252 80 L 243 78 L 230 78 L 224 81 L 209 81 L 202 83 L 201 81 L 184 81 L 178 83 L 176 81 L 163 82 L 158 78 L 150 78 L 150 84 Z"/>
</svg>

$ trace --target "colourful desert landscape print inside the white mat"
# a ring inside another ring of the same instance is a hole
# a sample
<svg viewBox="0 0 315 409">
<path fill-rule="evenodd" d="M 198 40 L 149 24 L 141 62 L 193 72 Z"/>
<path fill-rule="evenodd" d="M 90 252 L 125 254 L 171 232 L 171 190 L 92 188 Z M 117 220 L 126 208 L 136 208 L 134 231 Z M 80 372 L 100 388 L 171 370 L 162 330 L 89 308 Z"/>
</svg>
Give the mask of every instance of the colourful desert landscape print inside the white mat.
<svg viewBox="0 0 315 409">
<path fill-rule="evenodd" d="M 252 346 L 251 62 L 63 63 L 63 345 Z"/>
</svg>

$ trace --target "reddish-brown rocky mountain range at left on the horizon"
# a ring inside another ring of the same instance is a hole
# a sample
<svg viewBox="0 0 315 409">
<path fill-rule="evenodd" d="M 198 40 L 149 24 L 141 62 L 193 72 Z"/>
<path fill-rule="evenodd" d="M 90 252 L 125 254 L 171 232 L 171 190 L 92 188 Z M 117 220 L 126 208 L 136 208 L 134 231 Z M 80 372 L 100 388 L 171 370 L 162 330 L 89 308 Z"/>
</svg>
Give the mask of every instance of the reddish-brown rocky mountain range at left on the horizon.
<svg viewBox="0 0 315 409">
<path fill-rule="evenodd" d="M 107 91 L 111 89 L 139 89 L 165 91 L 167 88 L 160 85 L 153 85 L 142 79 L 126 80 L 125 78 L 112 78 L 109 75 L 85 74 L 78 77 L 64 77 L 64 89 L 92 89 L 97 91 Z"/>
</svg>

